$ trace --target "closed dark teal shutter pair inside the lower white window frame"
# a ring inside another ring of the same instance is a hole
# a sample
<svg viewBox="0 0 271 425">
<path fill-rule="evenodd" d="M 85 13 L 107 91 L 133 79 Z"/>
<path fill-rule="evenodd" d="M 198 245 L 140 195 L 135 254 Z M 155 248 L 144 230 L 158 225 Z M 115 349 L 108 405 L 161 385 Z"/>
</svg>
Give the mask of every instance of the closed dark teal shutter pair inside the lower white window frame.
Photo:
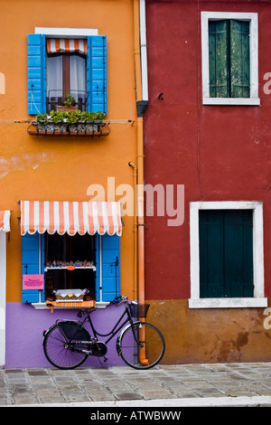
<svg viewBox="0 0 271 425">
<path fill-rule="evenodd" d="M 252 211 L 200 211 L 200 297 L 253 297 Z"/>
</svg>

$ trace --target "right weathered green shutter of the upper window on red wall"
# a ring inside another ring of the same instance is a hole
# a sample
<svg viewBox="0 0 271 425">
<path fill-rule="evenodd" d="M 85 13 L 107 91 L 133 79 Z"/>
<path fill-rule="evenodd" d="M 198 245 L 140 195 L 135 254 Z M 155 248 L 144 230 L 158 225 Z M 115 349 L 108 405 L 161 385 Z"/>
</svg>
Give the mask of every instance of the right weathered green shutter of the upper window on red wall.
<svg viewBox="0 0 271 425">
<path fill-rule="evenodd" d="M 231 98 L 249 98 L 249 23 L 230 20 Z"/>
</svg>

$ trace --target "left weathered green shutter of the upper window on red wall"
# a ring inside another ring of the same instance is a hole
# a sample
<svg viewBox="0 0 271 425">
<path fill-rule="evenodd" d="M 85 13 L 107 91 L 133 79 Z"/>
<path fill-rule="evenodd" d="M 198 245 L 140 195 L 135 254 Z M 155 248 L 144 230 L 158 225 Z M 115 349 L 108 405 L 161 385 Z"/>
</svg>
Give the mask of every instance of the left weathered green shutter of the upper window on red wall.
<svg viewBox="0 0 271 425">
<path fill-rule="evenodd" d="M 209 23 L 210 98 L 229 98 L 229 21 Z"/>
</svg>

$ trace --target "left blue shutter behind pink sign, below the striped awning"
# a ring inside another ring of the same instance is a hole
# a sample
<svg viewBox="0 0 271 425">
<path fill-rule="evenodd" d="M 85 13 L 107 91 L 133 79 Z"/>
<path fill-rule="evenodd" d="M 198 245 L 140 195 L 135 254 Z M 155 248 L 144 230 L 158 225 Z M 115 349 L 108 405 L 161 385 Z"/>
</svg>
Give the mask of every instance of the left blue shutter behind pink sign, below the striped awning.
<svg viewBox="0 0 271 425">
<path fill-rule="evenodd" d="M 44 236 L 39 233 L 22 236 L 22 274 L 44 274 Z M 22 279 L 23 280 L 23 279 Z M 23 284 L 23 283 L 22 283 Z M 44 290 L 41 294 L 41 302 L 44 302 Z M 23 303 L 38 303 L 40 291 L 38 289 L 23 289 Z"/>
</svg>

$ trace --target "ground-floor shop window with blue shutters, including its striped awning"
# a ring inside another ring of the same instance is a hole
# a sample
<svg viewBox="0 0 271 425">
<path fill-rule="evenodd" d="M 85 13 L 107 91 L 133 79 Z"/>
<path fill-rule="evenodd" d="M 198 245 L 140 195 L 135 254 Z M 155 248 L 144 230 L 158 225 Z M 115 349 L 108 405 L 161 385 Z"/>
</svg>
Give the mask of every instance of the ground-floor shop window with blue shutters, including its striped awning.
<svg viewBox="0 0 271 425">
<path fill-rule="evenodd" d="M 23 303 L 74 289 L 112 301 L 120 293 L 121 231 L 119 203 L 21 201 Z M 37 278 L 42 288 L 32 286 Z"/>
</svg>

